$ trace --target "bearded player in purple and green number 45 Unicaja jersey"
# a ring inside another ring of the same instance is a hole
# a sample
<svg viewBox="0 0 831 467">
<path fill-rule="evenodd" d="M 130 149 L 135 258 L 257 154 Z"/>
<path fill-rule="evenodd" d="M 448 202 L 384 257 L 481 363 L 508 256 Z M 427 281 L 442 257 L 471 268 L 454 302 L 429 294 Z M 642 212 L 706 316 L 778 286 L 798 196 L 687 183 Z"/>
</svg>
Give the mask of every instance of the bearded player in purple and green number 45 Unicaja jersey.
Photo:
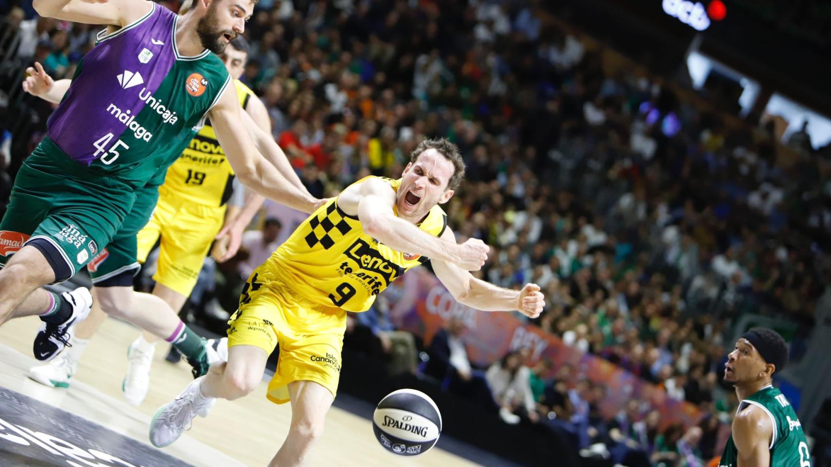
<svg viewBox="0 0 831 467">
<path fill-rule="evenodd" d="M 0 323 L 40 314 L 38 359 L 66 346 L 91 304 L 86 289 L 40 287 L 70 278 L 110 243 L 164 164 L 161 148 L 184 148 L 205 118 L 243 184 L 306 212 L 321 203 L 258 153 L 235 93 L 224 92 L 228 71 L 210 53 L 243 32 L 253 3 L 199 0 L 177 17 L 145 0 L 34 0 L 42 16 L 108 26 L 17 174 L 0 222 Z"/>
</svg>

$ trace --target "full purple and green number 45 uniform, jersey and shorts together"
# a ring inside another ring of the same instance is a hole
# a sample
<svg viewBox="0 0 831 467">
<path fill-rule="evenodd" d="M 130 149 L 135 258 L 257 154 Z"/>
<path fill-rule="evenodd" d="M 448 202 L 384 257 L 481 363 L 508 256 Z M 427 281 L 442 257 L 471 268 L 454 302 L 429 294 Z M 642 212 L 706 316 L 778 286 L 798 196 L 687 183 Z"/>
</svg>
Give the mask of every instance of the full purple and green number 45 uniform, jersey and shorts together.
<svg viewBox="0 0 831 467">
<path fill-rule="evenodd" d="M 31 243 L 66 280 L 116 237 L 138 231 L 155 186 L 231 82 L 213 53 L 180 56 L 177 15 L 147 5 L 138 21 L 99 34 L 47 138 L 17 172 L 0 220 L 0 267 Z"/>
</svg>

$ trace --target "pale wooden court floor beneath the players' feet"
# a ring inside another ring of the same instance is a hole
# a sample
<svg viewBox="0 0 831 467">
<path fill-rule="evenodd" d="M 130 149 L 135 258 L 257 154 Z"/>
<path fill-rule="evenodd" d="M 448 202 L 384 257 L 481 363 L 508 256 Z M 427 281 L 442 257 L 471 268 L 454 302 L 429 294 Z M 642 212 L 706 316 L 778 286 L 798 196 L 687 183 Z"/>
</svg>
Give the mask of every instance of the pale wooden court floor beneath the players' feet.
<svg viewBox="0 0 831 467">
<path fill-rule="evenodd" d="M 166 362 L 167 344 L 158 344 L 150 393 L 141 406 L 128 405 L 121 396 L 121 380 L 125 374 L 126 348 L 137 331 L 127 323 L 108 319 L 86 348 L 71 387 L 68 390 L 44 387 L 26 376 L 28 368 L 39 363 L 32 358 L 32 339 L 39 324 L 39 319 L 30 317 L 13 319 L 0 327 L 0 386 L 150 445 L 147 439 L 150 416 L 192 381 L 187 363 Z M 268 465 L 288 433 L 291 411 L 288 404 L 277 406 L 266 400 L 265 389 L 266 382 L 262 382 L 256 392 L 243 399 L 218 401 L 207 418 L 197 418 L 193 429 L 165 448 L 165 453 L 200 467 Z M 439 448 L 414 458 L 392 455 L 378 445 L 370 421 L 332 407 L 324 435 L 308 465 L 455 467 L 476 464 Z"/>
</svg>

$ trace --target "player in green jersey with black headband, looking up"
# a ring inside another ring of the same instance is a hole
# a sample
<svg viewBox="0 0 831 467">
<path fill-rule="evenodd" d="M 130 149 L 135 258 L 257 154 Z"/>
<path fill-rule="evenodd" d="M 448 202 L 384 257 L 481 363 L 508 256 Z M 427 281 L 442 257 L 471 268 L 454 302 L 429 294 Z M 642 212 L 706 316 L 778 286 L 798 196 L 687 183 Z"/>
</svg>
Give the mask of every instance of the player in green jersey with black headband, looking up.
<svg viewBox="0 0 831 467">
<path fill-rule="evenodd" d="M 752 328 L 725 363 L 739 409 L 719 467 L 811 467 L 808 443 L 794 407 L 773 387 L 788 362 L 788 345 L 768 328 Z"/>
</svg>

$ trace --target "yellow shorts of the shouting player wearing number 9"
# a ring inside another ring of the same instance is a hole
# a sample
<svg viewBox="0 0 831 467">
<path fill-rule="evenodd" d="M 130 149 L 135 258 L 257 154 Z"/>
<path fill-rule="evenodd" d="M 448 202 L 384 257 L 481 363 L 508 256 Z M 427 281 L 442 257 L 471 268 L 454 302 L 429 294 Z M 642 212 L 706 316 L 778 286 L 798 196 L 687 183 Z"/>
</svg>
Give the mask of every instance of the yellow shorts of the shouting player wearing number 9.
<svg viewBox="0 0 831 467">
<path fill-rule="evenodd" d="M 289 401 L 288 383 L 312 381 L 337 395 L 347 313 L 305 299 L 278 279 L 272 260 L 248 278 L 231 316 L 228 346 L 253 345 L 270 354 L 280 344 L 269 401 Z"/>
</svg>

